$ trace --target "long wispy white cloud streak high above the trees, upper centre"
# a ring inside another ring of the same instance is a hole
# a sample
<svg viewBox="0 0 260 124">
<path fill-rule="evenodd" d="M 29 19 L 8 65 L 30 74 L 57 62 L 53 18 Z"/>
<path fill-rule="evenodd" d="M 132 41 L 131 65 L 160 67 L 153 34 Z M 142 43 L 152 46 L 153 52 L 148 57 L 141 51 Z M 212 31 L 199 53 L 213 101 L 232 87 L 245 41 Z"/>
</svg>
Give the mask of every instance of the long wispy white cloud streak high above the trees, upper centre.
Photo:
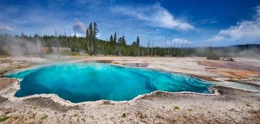
<svg viewBox="0 0 260 124">
<path fill-rule="evenodd" d="M 143 21 L 148 21 L 155 27 L 181 30 L 194 29 L 194 26 L 185 22 L 183 19 L 174 18 L 174 16 L 170 14 L 168 10 L 161 7 L 159 3 L 146 6 L 140 5 L 134 8 L 130 6 L 116 6 L 110 10 L 120 14 L 127 14 Z"/>
</svg>

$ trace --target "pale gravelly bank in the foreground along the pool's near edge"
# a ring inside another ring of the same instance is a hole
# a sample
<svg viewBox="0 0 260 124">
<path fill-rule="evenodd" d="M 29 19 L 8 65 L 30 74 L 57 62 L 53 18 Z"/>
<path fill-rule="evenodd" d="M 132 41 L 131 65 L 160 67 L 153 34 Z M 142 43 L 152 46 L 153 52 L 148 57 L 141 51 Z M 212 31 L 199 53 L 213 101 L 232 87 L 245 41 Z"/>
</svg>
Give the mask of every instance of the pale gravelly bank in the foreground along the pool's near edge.
<svg viewBox="0 0 260 124">
<path fill-rule="evenodd" d="M 14 84 L 17 83 L 14 80 Z M 10 84 L 10 86 L 13 86 Z M 216 95 L 153 92 L 131 101 L 66 103 L 52 95 L 7 99 L 1 92 L 4 123 L 258 123 L 260 92 L 214 87 Z"/>
</svg>

